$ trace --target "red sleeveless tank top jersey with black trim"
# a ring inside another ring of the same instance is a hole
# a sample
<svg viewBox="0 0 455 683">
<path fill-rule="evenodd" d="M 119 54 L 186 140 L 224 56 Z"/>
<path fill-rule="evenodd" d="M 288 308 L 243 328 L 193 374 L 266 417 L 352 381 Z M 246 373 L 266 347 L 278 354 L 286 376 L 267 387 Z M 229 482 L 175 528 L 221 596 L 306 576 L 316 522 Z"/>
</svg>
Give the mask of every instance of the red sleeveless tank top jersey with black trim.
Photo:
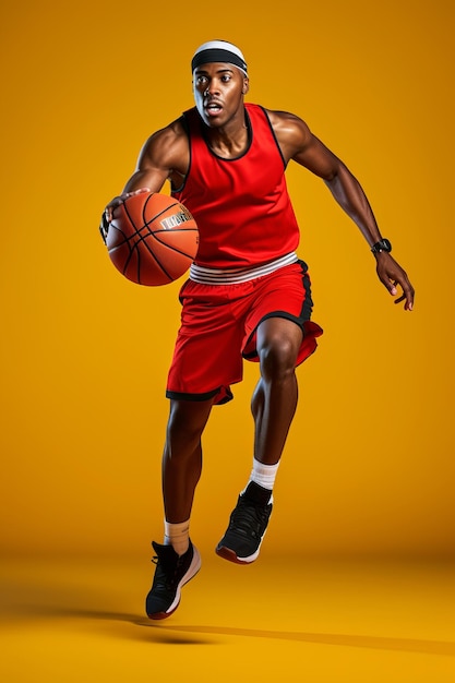
<svg viewBox="0 0 455 683">
<path fill-rule="evenodd" d="M 250 267 L 292 252 L 299 227 L 287 191 L 285 161 L 265 110 L 246 104 L 249 146 L 224 159 L 207 145 L 196 108 L 183 113 L 190 168 L 172 196 L 193 214 L 200 245 L 195 263 L 212 268 Z"/>
</svg>

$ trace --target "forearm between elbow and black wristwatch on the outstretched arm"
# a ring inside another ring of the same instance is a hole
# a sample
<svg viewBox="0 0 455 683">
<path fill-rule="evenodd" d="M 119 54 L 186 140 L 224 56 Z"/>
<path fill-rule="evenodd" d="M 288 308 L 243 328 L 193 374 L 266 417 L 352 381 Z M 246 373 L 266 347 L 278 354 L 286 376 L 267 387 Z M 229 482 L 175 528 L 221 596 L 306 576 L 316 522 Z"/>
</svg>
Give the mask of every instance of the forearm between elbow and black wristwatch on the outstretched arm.
<svg viewBox="0 0 455 683">
<path fill-rule="evenodd" d="M 359 227 L 370 247 L 382 239 L 369 201 L 352 173 L 340 164 L 330 180 L 324 180 L 332 195 L 347 215 Z"/>
</svg>

